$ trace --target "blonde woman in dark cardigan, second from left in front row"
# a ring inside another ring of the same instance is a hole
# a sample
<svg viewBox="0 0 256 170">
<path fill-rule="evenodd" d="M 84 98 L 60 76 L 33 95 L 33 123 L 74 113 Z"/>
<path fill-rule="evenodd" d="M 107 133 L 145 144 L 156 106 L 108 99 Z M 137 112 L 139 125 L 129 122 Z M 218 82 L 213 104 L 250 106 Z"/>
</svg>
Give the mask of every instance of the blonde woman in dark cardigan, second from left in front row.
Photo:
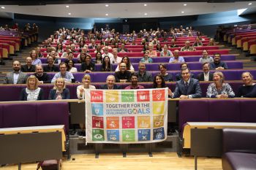
<svg viewBox="0 0 256 170">
<path fill-rule="evenodd" d="M 53 89 L 50 90 L 49 100 L 70 99 L 69 89 L 66 88 L 63 78 L 56 79 Z"/>
</svg>

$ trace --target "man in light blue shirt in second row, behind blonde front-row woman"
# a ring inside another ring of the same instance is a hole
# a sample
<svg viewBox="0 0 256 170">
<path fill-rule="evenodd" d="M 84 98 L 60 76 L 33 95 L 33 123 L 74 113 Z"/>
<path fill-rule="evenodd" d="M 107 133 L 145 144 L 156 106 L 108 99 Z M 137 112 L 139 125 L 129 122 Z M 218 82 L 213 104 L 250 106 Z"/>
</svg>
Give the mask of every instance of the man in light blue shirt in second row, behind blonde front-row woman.
<svg viewBox="0 0 256 170">
<path fill-rule="evenodd" d="M 61 62 L 59 64 L 59 69 L 61 72 L 58 72 L 54 75 L 51 83 L 55 82 L 59 77 L 64 78 L 65 82 L 74 82 L 75 78 L 71 72 L 67 72 L 67 63 Z"/>
</svg>

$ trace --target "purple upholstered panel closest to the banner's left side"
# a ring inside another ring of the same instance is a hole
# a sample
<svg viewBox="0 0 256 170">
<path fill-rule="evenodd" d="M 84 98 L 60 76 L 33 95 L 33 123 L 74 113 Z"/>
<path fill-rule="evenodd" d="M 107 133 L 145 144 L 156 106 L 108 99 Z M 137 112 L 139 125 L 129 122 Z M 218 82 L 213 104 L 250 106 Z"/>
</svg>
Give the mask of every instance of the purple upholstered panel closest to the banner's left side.
<svg viewBox="0 0 256 170">
<path fill-rule="evenodd" d="M 37 103 L 37 125 L 65 125 L 69 131 L 69 104 L 67 102 Z"/>
</svg>

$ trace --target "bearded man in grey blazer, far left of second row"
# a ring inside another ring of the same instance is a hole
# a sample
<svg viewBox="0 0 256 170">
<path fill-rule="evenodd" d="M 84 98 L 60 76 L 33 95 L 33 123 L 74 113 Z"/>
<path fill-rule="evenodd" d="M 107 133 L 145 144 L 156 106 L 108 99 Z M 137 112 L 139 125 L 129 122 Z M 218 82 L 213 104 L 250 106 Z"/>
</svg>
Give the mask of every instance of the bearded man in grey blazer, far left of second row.
<svg viewBox="0 0 256 170">
<path fill-rule="evenodd" d="M 4 84 L 26 84 L 27 75 L 20 72 L 20 61 L 13 61 L 13 72 L 7 73 Z"/>
</svg>

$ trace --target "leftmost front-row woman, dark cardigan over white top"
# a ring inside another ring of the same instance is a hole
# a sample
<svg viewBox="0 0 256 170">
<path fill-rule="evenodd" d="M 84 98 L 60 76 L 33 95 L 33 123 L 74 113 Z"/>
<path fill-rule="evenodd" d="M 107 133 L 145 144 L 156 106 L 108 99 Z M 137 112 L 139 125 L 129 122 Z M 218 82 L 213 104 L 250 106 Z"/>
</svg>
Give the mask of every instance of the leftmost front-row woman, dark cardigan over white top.
<svg viewBox="0 0 256 170">
<path fill-rule="evenodd" d="M 26 80 L 26 88 L 23 88 L 20 93 L 20 101 L 37 101 L 44 99 L 42 88 L 38 87 L 39 81 L 34 75 L 29 76 Z"/>
</svg>

